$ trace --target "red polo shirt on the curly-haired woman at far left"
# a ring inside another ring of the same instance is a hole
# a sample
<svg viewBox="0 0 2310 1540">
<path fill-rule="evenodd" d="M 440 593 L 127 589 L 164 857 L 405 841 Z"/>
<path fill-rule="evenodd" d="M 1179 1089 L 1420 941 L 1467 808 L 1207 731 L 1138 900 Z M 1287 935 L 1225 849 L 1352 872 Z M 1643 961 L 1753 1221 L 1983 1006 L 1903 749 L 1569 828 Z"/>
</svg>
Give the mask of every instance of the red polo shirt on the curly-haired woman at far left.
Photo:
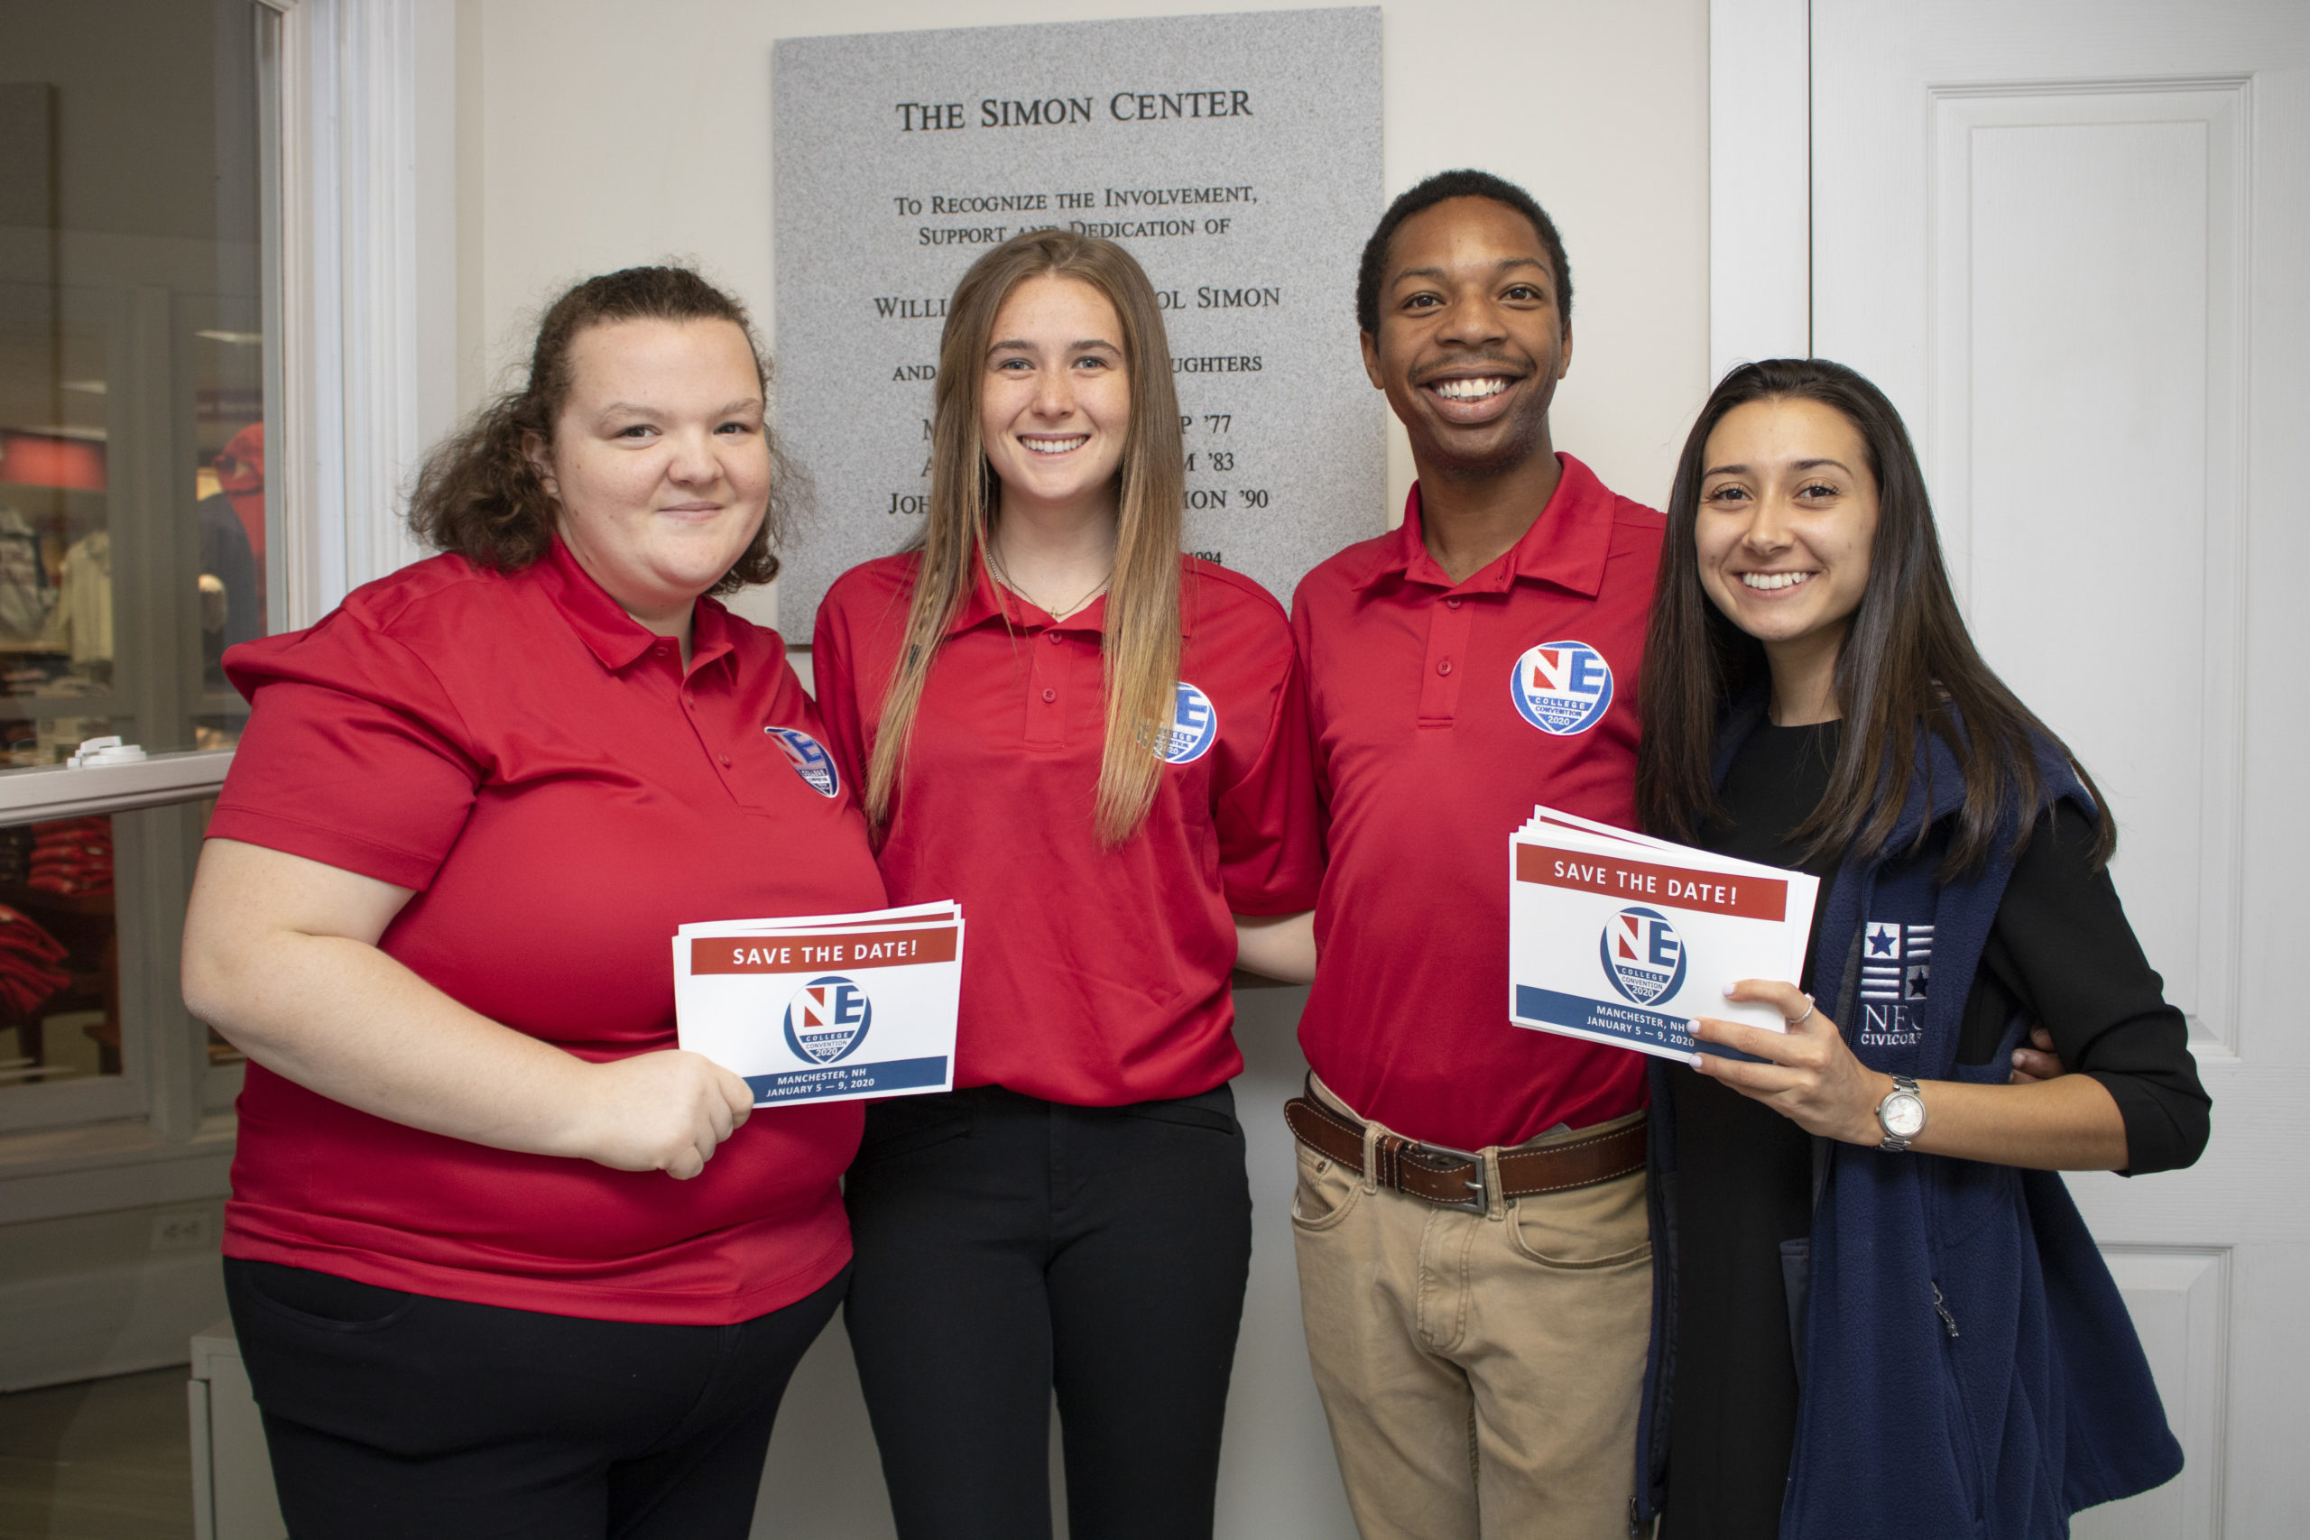
<svg viewBox="0 0 2310 1540">
<path fill-rule="evenodd" d="M 584 1060 L 675 1046 L 675 926 L 882 905 L 776 633 L 700 600 L 688 670 L 554 543 L 434 556 L 226 653 L 254 702 L 208 833 L 416 889 L 379 947 Z M 705 1175 L 513 1154 L 249 1064 L 224 1254 L 608 1321 L 723 1325 L 850 1258 L 857 1104 L 762 1108 Z"/>
</svg>

